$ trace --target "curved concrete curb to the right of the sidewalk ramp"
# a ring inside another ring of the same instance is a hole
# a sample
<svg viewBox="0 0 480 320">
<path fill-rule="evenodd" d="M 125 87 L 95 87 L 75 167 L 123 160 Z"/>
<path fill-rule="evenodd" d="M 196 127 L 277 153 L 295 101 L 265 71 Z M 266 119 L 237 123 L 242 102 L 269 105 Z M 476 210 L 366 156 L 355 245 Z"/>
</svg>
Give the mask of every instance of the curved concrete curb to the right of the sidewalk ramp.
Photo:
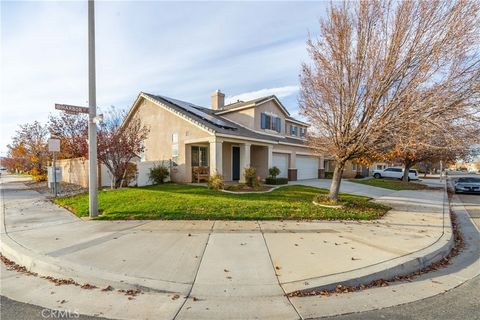
<svg viewBox="0 0 480 320">
<path fill-rule="evenodd" d="M 343 273 L 282 283 L 285 292 L 332 290 L 338 285 L 358 286 L 379 279 L 407 275 L 446 257 L 455 245 L 449 214 L 448 195 L 444 190 L 445 229 L 431 245 L 407 255 Z"/>
</svg>

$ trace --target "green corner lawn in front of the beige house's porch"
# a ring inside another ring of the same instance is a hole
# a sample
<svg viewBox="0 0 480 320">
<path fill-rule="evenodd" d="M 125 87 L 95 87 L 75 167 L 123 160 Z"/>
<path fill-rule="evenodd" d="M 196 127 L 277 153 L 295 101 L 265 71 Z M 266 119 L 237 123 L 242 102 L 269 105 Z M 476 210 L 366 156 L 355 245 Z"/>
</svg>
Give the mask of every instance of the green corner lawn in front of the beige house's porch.
<svg viewBox="0 0 480 320">
<path fill-rule="evenodd" d="M 230 194 L 205 187 L 164 184 L 141 188 L 99 191 L 97 219 L 168 220 L 275 220 L 275 219 L 376 219 L 389 208 L 368 198 L 342 194 L 349 206 L 342 209 L 312 204 L 327 190 L 287 186 L 269 193 Z M 88 195 L 57 198 L 55 202 L 78 216 L 88 216 Z"/>
</svg>

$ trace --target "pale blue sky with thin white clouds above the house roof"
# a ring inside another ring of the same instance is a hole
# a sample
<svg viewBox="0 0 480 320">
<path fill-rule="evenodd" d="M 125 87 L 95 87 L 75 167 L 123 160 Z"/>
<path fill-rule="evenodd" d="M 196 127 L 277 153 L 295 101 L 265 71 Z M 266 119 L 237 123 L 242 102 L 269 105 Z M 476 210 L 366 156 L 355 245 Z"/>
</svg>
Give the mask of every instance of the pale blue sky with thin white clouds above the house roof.
<svg viewBox="0 0 480 320">
<path fill-rule="evenodd" d="M 328 2 L 97 2 L 97 104 L 140 91 L 210 104 L 277 94 L 297 111 L 305 41 Z M 54 103 L 86 105 L 87 2 L 1 2 L 1 139 L 45 122 Z"/>
</svg>

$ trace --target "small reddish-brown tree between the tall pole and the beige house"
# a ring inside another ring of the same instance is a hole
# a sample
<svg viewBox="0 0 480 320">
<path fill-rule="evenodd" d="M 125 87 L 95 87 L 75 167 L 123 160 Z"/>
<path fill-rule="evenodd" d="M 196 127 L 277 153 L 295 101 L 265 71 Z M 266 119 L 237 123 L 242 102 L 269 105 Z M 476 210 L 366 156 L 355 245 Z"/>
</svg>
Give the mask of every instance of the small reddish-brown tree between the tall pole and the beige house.
<svg viewBox="0 0 480 320">
<path fill-rule="evenodd" d="M 138 117 L 126 121 L 126 116 L 126 112 L 112 107 L 98 131 L 98 160 L 110 172 L 114 188 L 123 185 L 130 162 L 143 152 L 149 132 Z"/>
</svg>

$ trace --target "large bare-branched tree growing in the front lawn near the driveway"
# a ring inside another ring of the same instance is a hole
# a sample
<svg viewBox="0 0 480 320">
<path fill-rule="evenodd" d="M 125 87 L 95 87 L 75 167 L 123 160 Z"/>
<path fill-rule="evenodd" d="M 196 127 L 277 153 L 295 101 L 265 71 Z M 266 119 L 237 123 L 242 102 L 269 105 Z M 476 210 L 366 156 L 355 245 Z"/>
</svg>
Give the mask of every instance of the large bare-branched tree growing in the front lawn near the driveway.
<svg viewBox="0 0 480 320">
<path fill-rule="evenodd" d="M 336 160 L 330 198 L 338 200 L 349 160 L 384 152 L 412 121 L 420 89 L 478 42 L 479 3 L 358 1 L 332 4 L 307 42 L 300 109 L 313 127 L 310 144 Z M 448 72 L 447 72 L 448 73 Z"/>
</svg>

